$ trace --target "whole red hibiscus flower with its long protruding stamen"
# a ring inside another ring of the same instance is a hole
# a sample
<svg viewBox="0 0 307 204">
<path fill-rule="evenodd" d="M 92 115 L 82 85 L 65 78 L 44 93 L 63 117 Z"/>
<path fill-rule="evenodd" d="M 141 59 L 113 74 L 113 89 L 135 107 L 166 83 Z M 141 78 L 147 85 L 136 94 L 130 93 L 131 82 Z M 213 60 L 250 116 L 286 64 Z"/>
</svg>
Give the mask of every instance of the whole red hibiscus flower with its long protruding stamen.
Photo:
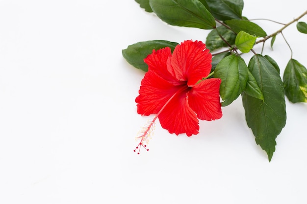
<svg viewBox="0 0 307 204">
<path fill-rule="evenodd" d="M 148 72 L 135 102 L 137 113 L 156 116 L 141 131 L 136 149 L 141 146 L 146 149 L 145 143 L 156 118 L 170 133 L 192 136 L 199 133 L 198 119 L 222 117 L 221 80 L 205 79 L 211 70 L 211 58 L 201 41 L 184 41 L 175 47 L 173 54 L 170 47 L 165 47 L 147 56 L 144 62 Z"/>
</svg>

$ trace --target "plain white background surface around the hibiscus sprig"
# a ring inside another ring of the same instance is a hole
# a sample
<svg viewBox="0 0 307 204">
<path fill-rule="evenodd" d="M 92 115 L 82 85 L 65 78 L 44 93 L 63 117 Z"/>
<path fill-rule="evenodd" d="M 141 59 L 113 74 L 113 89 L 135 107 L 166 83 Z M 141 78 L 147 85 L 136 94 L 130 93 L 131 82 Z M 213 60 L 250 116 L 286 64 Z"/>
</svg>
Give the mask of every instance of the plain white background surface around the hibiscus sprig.
<svg viewBox="0 0 307 204">
<path fill-rule="evenodd" d="M 306 9 L 302 0 L 245 0 L 243 15 L 288 23 Z M 282 26 L 255 23 L 268 34 Z M 136 113 L 144 72 L 122 49 L 205 42 L 208 32 L 167 25 L 134 0 L 0 0 L 0 203 L 306 203 L 306 104 L 286 99 L 271 162 L 246 125 L 241 97 L 221 119 L 200 121 L 197 136 L 157 123 L 150 151 L 133 152 L 153 116 Z M 307 66 L 307 35 L 295 24 L 283 34 Z M 291 56 L 281 35 L 263 54 L 281 73 Z"/>
</svg>

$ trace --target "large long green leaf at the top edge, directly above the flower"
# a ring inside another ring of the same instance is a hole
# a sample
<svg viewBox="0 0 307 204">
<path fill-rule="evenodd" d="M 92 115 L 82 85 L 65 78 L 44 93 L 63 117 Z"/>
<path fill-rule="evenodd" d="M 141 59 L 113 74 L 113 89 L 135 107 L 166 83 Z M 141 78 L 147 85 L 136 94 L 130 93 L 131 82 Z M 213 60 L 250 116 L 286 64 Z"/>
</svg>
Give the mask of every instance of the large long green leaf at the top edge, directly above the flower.
<svg viewBox="0 0 307 204">
<path fill-rule="evenodd" d="M 199 0 L 149 0 L 153 12 L 171 25 L 213 29 L 215 19 Z"/>
</svg>

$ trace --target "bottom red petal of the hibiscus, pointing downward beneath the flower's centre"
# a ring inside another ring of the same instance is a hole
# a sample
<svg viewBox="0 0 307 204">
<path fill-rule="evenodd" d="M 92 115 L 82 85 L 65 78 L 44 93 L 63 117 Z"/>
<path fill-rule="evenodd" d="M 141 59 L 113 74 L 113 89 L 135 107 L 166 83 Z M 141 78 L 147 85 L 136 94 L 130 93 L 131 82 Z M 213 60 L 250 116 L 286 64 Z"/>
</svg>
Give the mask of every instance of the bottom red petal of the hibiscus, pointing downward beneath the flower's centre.
<svg viewBox="0 0 307 204">
<path fill-rule="evenodd" d="M 158 116 L 162 128 L 170 133 L 187 136 L 198 134 L 199 125 L 196 113 L 189 107 L 186 91 L 176 94 Z"/>
</svg>

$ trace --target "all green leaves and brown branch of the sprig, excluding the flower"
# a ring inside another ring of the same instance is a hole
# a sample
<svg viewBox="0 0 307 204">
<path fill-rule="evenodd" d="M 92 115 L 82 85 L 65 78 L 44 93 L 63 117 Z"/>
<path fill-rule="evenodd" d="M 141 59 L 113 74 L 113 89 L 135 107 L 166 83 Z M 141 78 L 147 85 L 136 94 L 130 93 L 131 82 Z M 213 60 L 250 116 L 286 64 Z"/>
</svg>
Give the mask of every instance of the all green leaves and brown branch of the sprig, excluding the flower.
<svg viewBox="0 0 307 204">
<path fill-rule="evenodd" d="M 297 30 L 307 33 L 307 23 L 299 22 L 307 11 L 289 23 L 268 19 L 253 19 L 242 16 L 243 0 L 136 0 L 147 12 L 153 12 L 162 21 L 175 26 L 211 30 L 205 44 L 212 53 L 212 68 L 209 77 L 220 78 L 222 106 L 230 105 L 242 96 L 248 127 L 256 137 L 256 144 L 271 160 L 276 146 L 276 137 L 286 123 L 285 96 L 292 103 L 307 102 L 307 69 L 292 58 L 291 46 L 282 31 L 293 23 Z M 255 20 L 267 20 L 283 26 L 267 35 Z M 262 55 L 265 42 L 271 39 L 273 47 L 276 36 L 281 34 L 291 50 L 291 57 L 281 79 L 278 63 L 268 55 Z M 199 39 L 196 39 L 199 40 Z M 253 49 L 263 43 L 261 54 Z M 171 47 L 178 43 L 155 40 L 138 42 L 123 49 L 124 58 L 135 68 L 148 70 L 144 58 L 153 49 Z M 222 48 L 227 48 L 221 50 Z M 239 53 L 240 51 L 240 53 Z M 241 54 L 252 52 L 248 64 Z"/>
</svg>

